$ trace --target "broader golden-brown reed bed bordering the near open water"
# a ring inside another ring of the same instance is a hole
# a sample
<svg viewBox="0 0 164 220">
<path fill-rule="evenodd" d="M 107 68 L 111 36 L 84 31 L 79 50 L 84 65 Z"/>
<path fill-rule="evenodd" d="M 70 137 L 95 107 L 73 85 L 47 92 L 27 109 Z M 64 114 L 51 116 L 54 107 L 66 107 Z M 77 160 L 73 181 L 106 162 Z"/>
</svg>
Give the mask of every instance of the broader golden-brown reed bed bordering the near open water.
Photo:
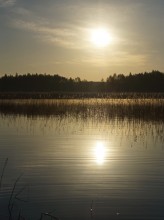
<svg viewBox="0 0 164 220">
<path fill-rule="evenodd" d="M 1 115 L 164 120 L 164 99 L 2 99 Z"/>
</svg>

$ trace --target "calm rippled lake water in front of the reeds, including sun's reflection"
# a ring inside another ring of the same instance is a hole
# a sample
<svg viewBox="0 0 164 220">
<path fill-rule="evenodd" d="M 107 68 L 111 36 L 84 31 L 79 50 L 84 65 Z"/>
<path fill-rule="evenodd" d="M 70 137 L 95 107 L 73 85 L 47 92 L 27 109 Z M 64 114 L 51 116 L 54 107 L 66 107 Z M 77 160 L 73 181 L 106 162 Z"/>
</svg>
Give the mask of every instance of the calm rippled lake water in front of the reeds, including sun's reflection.
<svg viewBox="0 0 164 220">
<path fill-rule="evenodd" d="M 82 116 L 0 114 L 0 219 L 164 219 L 164 121 Z"/>
</svg>

